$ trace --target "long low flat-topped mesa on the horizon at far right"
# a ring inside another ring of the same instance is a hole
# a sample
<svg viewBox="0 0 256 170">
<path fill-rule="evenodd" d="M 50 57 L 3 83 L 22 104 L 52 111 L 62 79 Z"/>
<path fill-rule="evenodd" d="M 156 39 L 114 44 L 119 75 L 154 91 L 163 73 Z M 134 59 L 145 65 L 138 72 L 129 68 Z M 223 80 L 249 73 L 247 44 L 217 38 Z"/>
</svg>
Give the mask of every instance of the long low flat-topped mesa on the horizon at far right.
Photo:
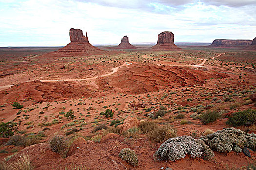
<svg viewBox="0 0 256 170">
<path fill-rule="evenodd" d="M 215 39 L 209 47 L 243 47 L 251 43 L 252 40 Z"/>
</svg>

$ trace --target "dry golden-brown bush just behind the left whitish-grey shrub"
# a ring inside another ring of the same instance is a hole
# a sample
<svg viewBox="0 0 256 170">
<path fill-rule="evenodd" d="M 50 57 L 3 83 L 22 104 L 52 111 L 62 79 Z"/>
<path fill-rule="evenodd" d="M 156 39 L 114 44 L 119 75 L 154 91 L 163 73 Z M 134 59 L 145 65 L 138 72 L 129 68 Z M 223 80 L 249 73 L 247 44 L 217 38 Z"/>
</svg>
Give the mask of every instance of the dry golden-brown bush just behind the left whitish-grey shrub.
<svg viewBox="0 0 256 170">
<path fill-rule="evenodd" d="M 153 142 L 161 143 L 165 140 L 168 140 L 169 138 L 176 137 L 176 133 L 176 129 L 172 129 L 170 126 L 165 125 L 159 126 L 158 128 L 149 131 L 147 136 Z"/>
</svg>

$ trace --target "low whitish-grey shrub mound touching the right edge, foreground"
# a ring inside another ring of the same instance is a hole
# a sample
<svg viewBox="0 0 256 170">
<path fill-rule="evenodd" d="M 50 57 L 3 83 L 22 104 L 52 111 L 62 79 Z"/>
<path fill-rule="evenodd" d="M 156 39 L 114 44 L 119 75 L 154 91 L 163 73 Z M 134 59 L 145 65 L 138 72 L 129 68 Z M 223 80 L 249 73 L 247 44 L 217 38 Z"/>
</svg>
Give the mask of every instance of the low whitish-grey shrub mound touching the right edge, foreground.
<svg viewBox="0 0 256 170">
<path fill-rule="evenodd" d="M 215 133 L 201 136 L 212 150 L 218 152 L 242 152 L 244 147 L 256 149 L 256 134 L 248 134 L 239 129 L 226 128 Z"/>
</svg>

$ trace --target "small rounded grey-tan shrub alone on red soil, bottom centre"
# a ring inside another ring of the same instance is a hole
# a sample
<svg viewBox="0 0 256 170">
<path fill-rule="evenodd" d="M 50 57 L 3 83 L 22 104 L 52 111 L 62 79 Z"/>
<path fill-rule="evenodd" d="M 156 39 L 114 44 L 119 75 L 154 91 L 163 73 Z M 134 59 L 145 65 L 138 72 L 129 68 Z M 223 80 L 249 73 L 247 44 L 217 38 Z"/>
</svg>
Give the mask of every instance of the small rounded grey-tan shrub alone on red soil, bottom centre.
<svg viewBox="0 0 256 170">
<path fill-rule="evenodd" d="M 138 157 L 133 150 L 129 148 L 123 148 L 120 151 L 119 156 L 128 164 L 131 164 L 134 167 L 138 166 Z"/>
</svg>

